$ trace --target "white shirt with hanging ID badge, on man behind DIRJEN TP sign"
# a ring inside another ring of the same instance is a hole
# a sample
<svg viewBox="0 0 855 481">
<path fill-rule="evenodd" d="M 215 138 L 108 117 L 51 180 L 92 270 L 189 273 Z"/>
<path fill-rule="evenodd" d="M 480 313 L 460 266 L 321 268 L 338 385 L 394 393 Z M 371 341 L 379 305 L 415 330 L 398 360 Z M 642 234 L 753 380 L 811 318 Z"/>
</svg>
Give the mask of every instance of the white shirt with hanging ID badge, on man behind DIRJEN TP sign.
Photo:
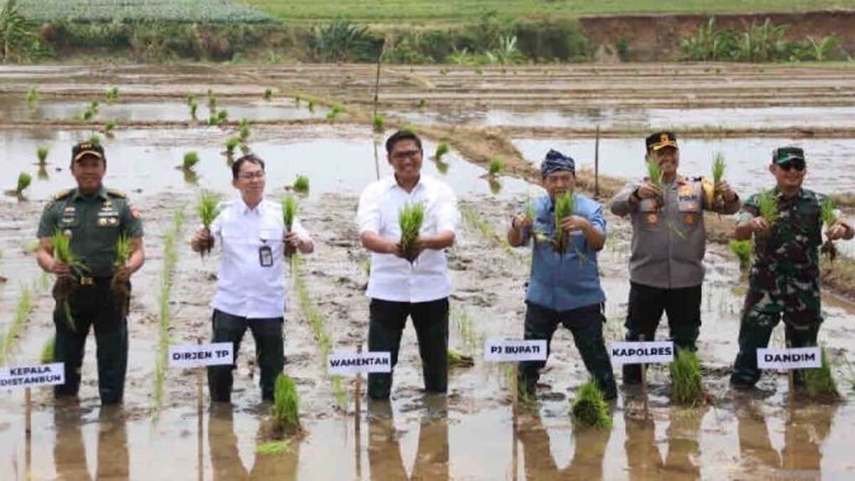
<svg viewBox="0 0 855 481">
<path fill-rule="evenodd" d="M 309 233 L 294 219 L 300 238 Z M 222 205 L 211 224 L 221 246 L 222 262 L 211 307 L 241 318 L 281 318 L 285 312 L 282 206 L 262 200 L 250 209 L 243 199 Z M 261 249 L 270 247 L 271 265 L 262 266 Z"/>
</svg>

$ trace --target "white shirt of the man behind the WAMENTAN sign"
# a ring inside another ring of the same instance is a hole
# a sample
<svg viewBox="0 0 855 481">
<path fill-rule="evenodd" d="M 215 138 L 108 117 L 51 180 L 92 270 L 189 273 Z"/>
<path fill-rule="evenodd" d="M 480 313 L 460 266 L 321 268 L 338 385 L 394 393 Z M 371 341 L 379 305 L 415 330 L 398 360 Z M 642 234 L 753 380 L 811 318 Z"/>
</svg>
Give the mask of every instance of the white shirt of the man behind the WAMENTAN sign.
<svg viewBox="0 0 855 481">
<path fill-rule="evenodd" d="M 422 174 L 410 193 L 398 186 L 394 175 L 366 187 L 357 210 L 359 234 L 370 231 L 386 239 L 399 241 L 401 229 L 398 212 L 404 205 L 416 202 L 425 206 L 420 235 L 437 235 L 443 230 L 457 231 L 460 213 L 451 187 Z M 428 302 L 448 297 L 451 294 L 451 279 L 448 276 L 445 250 L 425 249 L 413 264 L 394 254 L 372 252 L 369 287 L 365 294 L 372 299 L 397 302 Z"/>
</svg>

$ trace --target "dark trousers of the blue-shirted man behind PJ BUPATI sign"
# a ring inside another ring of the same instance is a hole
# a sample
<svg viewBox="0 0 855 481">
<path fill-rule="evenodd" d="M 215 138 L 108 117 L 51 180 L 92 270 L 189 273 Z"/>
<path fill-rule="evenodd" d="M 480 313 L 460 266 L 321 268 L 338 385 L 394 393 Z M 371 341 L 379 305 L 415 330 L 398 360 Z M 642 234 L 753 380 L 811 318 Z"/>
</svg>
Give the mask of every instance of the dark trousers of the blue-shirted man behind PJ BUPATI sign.
<svg viewBox="0 0 855 481">
<path fill-rule="evenodd" d="M 614 399 L 617 396 L 617 388 L 609 352 L 606 351 L 603 340 L 604 322 L 602 306 L 599 304 L 559 312 L 529 302 L 526 308 L 525 338 L 545 339 L 546 355 L 549 356 L 552 335 L 558 324 L 562 324 L 573 334 L 573 341 L 582 362 L 596 380 L 605 398 Z M 524 389 L 526 394 L 534 395 L 540 369 L 545 365 L 545 361 L 520 362 L 517 377 L 520 388 Z"/>
</svg>

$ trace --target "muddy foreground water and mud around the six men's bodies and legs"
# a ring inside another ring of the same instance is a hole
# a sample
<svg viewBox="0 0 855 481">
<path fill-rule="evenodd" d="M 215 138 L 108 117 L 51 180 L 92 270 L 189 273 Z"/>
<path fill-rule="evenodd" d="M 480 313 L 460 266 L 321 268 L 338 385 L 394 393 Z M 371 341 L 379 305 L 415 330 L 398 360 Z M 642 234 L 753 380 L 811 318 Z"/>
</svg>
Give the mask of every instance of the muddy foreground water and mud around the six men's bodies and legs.
<svg viewBox="0 0 855 481">
<path fill-rule="evenodd" d="M 292 306 L 286 321 L 286 371 L 298 383 L 305 435 L 292 443 L 290 454 L 255 454 L 257 444 L 266 439 L 267 421 L 266 407 L 257 403 L 251 342 L 242 347 L 233 410 L 206 406 L 201 438 L 192 372 L 168 372 L 167 399 L 153 424 L 149 393 L 156 351 L 153 294 L 161 268 L 159 246 L 171 211 L 191 200 L 192 195 L 178 193 L 152 194 L 140 201 L 149 223 L 150 261 L 135 280 L 125 407 L 119 413 L 97 407 L 90 342 L 79 407 L 55 407 L 50 391 L 37 389 L 32 478 L 191 478 L 201 472 L 204 479 L 730 479 L 818 478 L 820 474 L 847 478 L 855 472 L 848 448 L 855 423 L 851 401 L 829 406 L 799 398 L 790 404 L 786 377 L 775 374 L 765 376 L 756 393 L 728 390 L 744 282 L 735 259 L 717 246 L 711 247 L 707 258 L 699 345 L 707 368 L 705 386 L 718 400 L 715 407 L 671 406 L 667 370 L 653 368 L 649 419 L 640 419 L 639 393 L 628 389 L 613 407 L 610 431 L 575 431 L 568 417 L 569 401 L 587 375 L 571 336 L 559 330 L 541 378 L 538 407 L 519 413 L 515 433 L 508 386 L 497 365 L 478 361 L 475 368 L 452 372 L 447 400 L 424 395 L 415 335 L 408 328 L 392 402 L 363 403 L 357 437 L 353 384 L 345 383 L 350 399 L 343 412 L 335 407 L 330 384 L 321 372 L 310 327 Z M 469 195 L 464 204 L 495 229 L 504 229 L 504 219 L 519 203 L 485 200 Z M 363 252 L 351 226 L 356 199 L 319 195 L 306 202 L 304 223 L 315 234 L 318 251 L 305 259 L 304 276 L 327 319 L 335 350 L 352 351 L 364 341 L 367 328 Z M 11 217 L 12 207 L 0 206 L 0 217 Z M 606 336 L 616 340 L 622 336 L 626 314 L 629 229 L 610 218 L 610 232 L 613 241 L 599 260 L 609 299 Z M 18 233 L 2 230 L 0 235 Z M 187 235 L 186 229 L 185 240 Z M 180 257 L 173 305 L 176 342 L 208 335 L 205 303 L 213 294 L 209 276 L 218 263 L 217 255 L 205 262 L 186 251 Z M 461 313 L 480 336 L 521 336 L 525 263 L 467 225 L 451 252 L 450 265 L 457 287 L 452 295 L 451 346 L 481 358 L 479 342 L 459 330 L 464 322 Z M 0 299 L 7 312 L 9 299 Z M 40 342 L 50 332 L 49 308 L 50 300 L 39 297 L 16 361 L 37 355 Z M 821 340 L 840 357 L 855 336 L 851 327 L 855 314 L 831 302 L 823 314 Z M 667 336 L 666 331 L 660 330 L 659 336 Z M 776 331 L 773 345 L 781 343 Z M 840 372 L 838 378 L 841 390 L 851 395 L 852 381 L 842 379 Z M 20 392 L 0 396 L 0 442 L 9 447 L 0 463 L 4 479 L 24 478 L 27 472 L 21 406 Z"/>
</svg>

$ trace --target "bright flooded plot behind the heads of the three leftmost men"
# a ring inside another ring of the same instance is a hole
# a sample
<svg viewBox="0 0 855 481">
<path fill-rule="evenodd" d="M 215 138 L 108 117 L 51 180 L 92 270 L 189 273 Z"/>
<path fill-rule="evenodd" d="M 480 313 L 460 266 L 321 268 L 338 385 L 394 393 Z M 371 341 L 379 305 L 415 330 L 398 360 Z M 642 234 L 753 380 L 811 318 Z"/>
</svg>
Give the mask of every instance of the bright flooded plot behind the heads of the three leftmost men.
<svg viewBox="0 0 855 481">
<path fill-rule="evenodd" d="M 231 193 L 232 174 L 224 155 L 225 142 L 235 132 L 221 128 L 173 130 L 122 130 L 105 139 L 110 187 L 139 197 L 156 195 L 194 185 L 222 193 Z M 27 197 L 47 199 L 72 181 L 68 172 L 70 145 L 85 139 L 85 131 L 17 131 L 0 133 L 0 151 L 9 172 L 31 172 L 32 187 Z M 376 141 L 376 143 L 375 143 Z M 267 162 L 268 186 L 290 185 L 297 175 L 310 178 L 310 195 L 321 193 L 359 193 L 380 175 L 390 175 L 385 146 L 381 139 L 358 128 L 253 128 L 251 151 Z M 35 152 L 39 146 L 50 149 L 48 166 L 39 172 Z M 426 155 L 436 145 L 426 142 Z M 175 169 L 187 151 L 197 151 L 200 162 L 193 173 Z M 236 151 L 235 157 L 241 155 Z M 375 157 L 376 155 L 376 157 Z M 376 159 L 376 160 L 375 160 Z M 437 163 L 424 161 L 425 172 L 444 178 L 459 195 L 489 194 L 495 185 L 484 177 L 486 170 L 463 162 L 455 152 Z M 528 186 L 515 178 L 500 177 L 499 195 L 524 195 Z M 15 187 L 15 175 L 3 176 L 5 188 Z M 0 202 L 14 203 L 13 197 Z"/>
</svg>

